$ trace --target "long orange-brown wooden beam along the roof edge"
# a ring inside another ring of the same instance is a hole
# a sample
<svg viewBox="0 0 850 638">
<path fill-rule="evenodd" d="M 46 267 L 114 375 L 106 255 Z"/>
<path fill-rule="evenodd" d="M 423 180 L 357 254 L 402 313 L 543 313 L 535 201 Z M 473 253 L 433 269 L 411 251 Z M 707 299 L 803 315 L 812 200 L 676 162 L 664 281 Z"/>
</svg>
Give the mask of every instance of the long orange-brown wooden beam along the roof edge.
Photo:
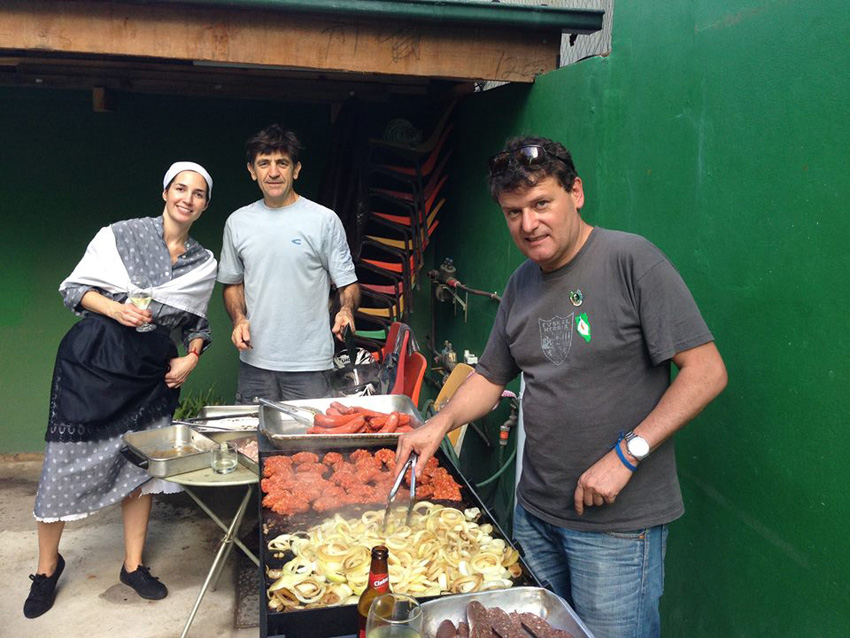
<svg viewBox="0 0 850 638">
<path fill-rule="evenodd" d="M 0 3 L 0 50 L 532 82 L 556 68 L 559 46 L 559 33 L 504 28 L 388 24 L 171 4 Z"/>
</svg>

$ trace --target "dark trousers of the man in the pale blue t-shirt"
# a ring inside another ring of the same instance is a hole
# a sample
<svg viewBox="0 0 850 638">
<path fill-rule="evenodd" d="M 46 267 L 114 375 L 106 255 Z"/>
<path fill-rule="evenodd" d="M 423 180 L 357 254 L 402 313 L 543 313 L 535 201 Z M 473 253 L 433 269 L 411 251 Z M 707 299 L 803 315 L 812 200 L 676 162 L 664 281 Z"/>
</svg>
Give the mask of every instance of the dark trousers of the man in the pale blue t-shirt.
<svg viewBox="0 0 850 638">
<path fill-rule="evenodd" d="M 270 401 L 319 399 L 331 396 L 330 371 L 280 372 L 264 370 L 239 362 L 239 381 L 236 385 L 236 403 L 256 403 L 256 397 Z"/>
</svg>

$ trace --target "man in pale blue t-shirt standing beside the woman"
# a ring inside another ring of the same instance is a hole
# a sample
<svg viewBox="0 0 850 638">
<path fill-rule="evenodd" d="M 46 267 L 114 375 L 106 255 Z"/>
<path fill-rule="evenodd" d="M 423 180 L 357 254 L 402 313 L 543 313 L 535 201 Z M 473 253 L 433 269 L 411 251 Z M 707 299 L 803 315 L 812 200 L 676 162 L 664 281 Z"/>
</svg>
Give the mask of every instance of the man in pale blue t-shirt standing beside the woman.
<svg viewBox="0 0 850 638">
<path fill-rule="evenodd" d="M 330 395 L 332 334 L 354 329 L 360 288 L 342 222 L 298 195 L 301 144 L 272 125 L 246 144 L 263 198 L 227 219 L 218 270 L 239 350 L 237 403 Z M 330 325 L 333 283 L 341 309 Z"/>
</svg>

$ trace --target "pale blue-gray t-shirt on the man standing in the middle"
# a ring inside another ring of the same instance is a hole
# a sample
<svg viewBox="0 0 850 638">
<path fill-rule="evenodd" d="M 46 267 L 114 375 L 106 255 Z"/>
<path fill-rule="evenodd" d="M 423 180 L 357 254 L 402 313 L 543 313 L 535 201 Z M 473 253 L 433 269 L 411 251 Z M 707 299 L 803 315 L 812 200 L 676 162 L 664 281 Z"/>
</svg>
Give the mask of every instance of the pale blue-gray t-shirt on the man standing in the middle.
<svg viewBox="0 0 850 638">
<path fill-rule="evenodd" d="M 223 284 L 245 283 L 251 350 L 245 363 L 307 372 L 332 366 L 328 295 L 357 281 L 339 217 L 304 197 L 283 208 L 263 200 L 227 219 L 218 268 Z"/>
</svg>

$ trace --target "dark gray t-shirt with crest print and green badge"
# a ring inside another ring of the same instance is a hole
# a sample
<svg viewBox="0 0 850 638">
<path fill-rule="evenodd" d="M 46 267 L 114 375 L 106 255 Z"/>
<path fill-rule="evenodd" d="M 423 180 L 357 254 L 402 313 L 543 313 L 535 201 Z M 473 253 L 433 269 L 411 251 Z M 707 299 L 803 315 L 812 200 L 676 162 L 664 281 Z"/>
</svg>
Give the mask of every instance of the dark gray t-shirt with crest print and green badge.
<svg viewBox="0 0 850 638">
<path fill-rule="evenodd" d="M 594 228 L 557 271 L 543 273 L 531 261 L 517 268 L 477 371 L 499 384 L 525 375 L 523 507 L 585 531 L 629 531 L 681 516 L 672 439 L 641 462 L 613 504 L 579 517 L 573 494 L 620 432 L 658 403 L 673 355 L 712 340 L 675 268 L 637 235 Z"/>
</svg>

